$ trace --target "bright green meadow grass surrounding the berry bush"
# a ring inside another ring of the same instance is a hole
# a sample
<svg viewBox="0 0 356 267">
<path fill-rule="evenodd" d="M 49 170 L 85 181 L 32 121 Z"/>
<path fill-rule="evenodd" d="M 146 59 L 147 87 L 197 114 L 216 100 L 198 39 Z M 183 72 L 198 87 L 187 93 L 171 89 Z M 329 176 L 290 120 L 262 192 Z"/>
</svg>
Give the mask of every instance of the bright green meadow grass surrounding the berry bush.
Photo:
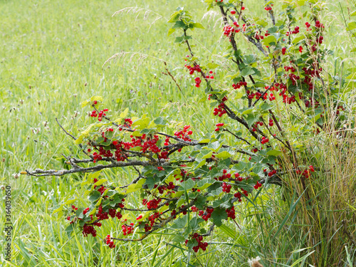
<svg viewBox="0 0 356 267">
<path fill-rule="evenodd" d="M 251 1 L 251 6 L 258 6 L 258 3 Z M 329 11 L 325 14 L 328 21 L 326 46 L 335 51 L 328 58 L 330 73 L 342 71 L 340 61 L 343 61 L 344 70 L 355 67 L 350 61 L 352 55 L 348 53 L 355 44 L 345 31 L 345 23 L 350 21 L 347 8 L 351 4 L 341 1 L 343 9 L 337 4 L 328 3 Z M 131 12 L 112 17 L 115 11 L 127 6 L 140 6 L 144 10 L 140 14 Z M 214 129 L 214 121 L 206 119 L 211 115 L 209 106 L 199 102 L 204 93 L 192 86 L 192 79 L 183 71 L 183 48 L 173 43 L 174 38 L 167 38 L 167 17 L 177 6 L 186 6 L 192 14 L 197 14 L 197 21 L 201 21 L 206 12 L 204 4 L 186 0 L 164 1 L 164 4 L 162 1 L 81 0 L 0 2 L 0 103 L 3 114 L 0 118 L 0 184 L 11 185 L 14 224 L 12 262 L 2 263 L 2 266 L 187 266 L 184 263 L 187 256 L 192 266 L 247 266 L 247 259 L 254 256 L 265 259 L 266 266 L 303 266 L 306 258 L 317 254 L 315 250 L 319 247 L 306 246 L 313 220 L 306 216 L 306 221 L 299 221 L 295 212 L 298 196 L 294 199 L 291 196 L 288 206 L 281 201 L 279 189 L 264 189 L 256 204 L 259 208 L 241 207 L 241 229 L 228 224 L 234 230 L 230 235 L 217 230 L 209 240 L 215 246 L 209 246 L 207 253 L 196 258 L 188 255 L 184 247 L 169 244 L 168 231 L 152 235 L 139 244 L 117 244 L 115 251 L 101 246 L 100 239 L 81 235 L 68 239 L 63 217 L 53 215 L 53 206 L 61 203 L 68 192 L 77 194 L 84 203 L 78 189 L 83 176 L 21 176 L 19 179 L 12 176 L 23 169 L 36 167 L 59 169 L 63 167 L 61 153 L 78 153 L 56 125 L 55 118 L 73 135 L 78 134 L 82 130 L 80 127 L 90 121 L 86 116 L 88 110 L 81 109 L 80 103 L 92 95 L 102 95 L 112 114 L 120 114 L 128 107 L 130 116 L 161 115 L 190 124 L 197 132 Z M 149 13 L 145 20 L 147 10 L 157 14 Z M 262 7 L 258 12 L 264 16 Z M 162 18 L 155 21 L 159 16 Z M 194 38 L 198 46 L 194 49 L 203 61 L 220 61 L 221 58 L 216 56 L 221 53 L 220 42 L 223 42 L 219 40 L 220 29 L 208 19 L 203 23 L 211 35 L 196 31 Z M 243 40 L 240 43 L 241 47 L 248 48 L 248 43 Z M 335 43 L 342 45 L 335 46 Z M 108 58 L 121 51 L 127 52 L 125 58 L 103 67 Z M 147 59 L 140 60 L 142 55 L 147 55 Z M 182 92 L 172 80 L 162 75 L 165 71 L 162 60 L 167 61 L 169 71 L 182 86 Z M 226 70 L 218 73 L 220 77 L 224 74 Z M 351 136 L 349 140 L 352 140 Z M 339 209 L 343 214 L 349 213 L 345 216 L 351 222 L 347 231 L 355 236 L 352 229 L 355 226 L 352 224 L 355 203 L 347 202 L 355 193 L 350 190 L 355 188 L 355 182 L 352 184 L 355 162 L 348 157 L 344 164 L 345 159 L 337 154 L 340 149 L 333 145 L 331 137 L 328 141 L 320 151 L 310 151 L 312 155 L 318 154 L 321 164 L 340 167 L 328 174 L 328 179 L 320 177 L 326 183 L 318 183 L 323 184 L 323 188 L 315 189 L 315 192 L 328 190 L 329 198 L 325 199 L 323 207 L 330 205 L 329 210 L 319 211 L 324 219 L 319 221 L 322 227 L 313 230 L 320 241 L 325 240 L 325 233 L 333 236 L 333 223 L 339 222 L 335 219 Z M 345 141 L 341 145 L 348 144 Z M 329 157 L 329 152 L 335 157 Z M 335 162 L 331 162 L 332 159 Z M 129 169 L 104 172 L 110 182 L 129 181 L 131 175 Z M 337 187 L 338 181 L 345 177 L 349 177 L 350 184 Z M 135 199 L 129 201 L 135 205 Z M 345 209 L 347 205 L 349 209 Z M 1 206 L 1 214 L 4 214 L 3 209 Z M 301 211 L 308 212 L 306 208 Z M 301 230 L 296 230 L 295 225 Z M 0 228 L 3 227 L 1 217 Z M 341 231 L 338 227 L 336 230 Z M 119 231 L 118 228 L 112 223 L 104 224 L 98 236 Z M 326 244 L 323 247 L 329 248 Z M 347 255 L 345 266 L 352 266 L 352 261 L 355 265 L 355 245 L 333 248 L 333 251 Z M 316 252 L 325 256 L 333 251 Z"/>
</svg>

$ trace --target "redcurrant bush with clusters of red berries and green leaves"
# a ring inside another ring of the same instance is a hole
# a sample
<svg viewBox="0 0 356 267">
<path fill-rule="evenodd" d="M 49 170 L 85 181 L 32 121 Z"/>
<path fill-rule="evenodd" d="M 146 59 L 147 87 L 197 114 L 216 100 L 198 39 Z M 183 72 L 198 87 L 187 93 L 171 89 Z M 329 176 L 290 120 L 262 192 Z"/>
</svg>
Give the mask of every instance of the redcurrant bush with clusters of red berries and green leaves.
<svg viewBox="0 0 356 267">
<path fill-rule="evenodd" d="M 163 117 L 129 117 L 128 108 L 117 115 L 100 96 L 85 100 L 82 107 L 90 108 L 91 124 L 72 136 L 83 158 L 67 157 L 70 169 L 27 172 L 88 173 L 82 182 L 88 206 L 63 204 L 57 210 L 68 211 L 69 234 L 80 229 L 84 236 L 98 236 L 105 221 L 115 221 L 121 231 L 100 236 L 105 246 L 115 248 L 117 242 L 142 241 L 167 228 L 174 230 L 173 241 L 197 253 L 209 246 L 206 236 L 214 227 L 236 220 L 237 208 L 253 201 L 263 187 L 288 186 L 284 175 L 298 177 L 308 197 L 307 184 L 320 169 L 312 159 L 300 157 L 303 140 L 295 129 L 310 136 L 330 130 L 326 114 L 335 110 L 332 130 L 339 131 L 347 108 L 340 104 L 338 80 L 323 70 L 330 51 L 323 44 L 321 6 L 310 9 L 315 1 L 298 1 L 307 11 L 296 19 L 296 4 L 276 1 L 264 6 L 268 19 L 253 21 L 248 2 L 246 9 L 242 1 L 205 2 L 222 18 L 220 46 L 225 47 L 226 66 L 194 51 L 189 34 L 204 26 L 189 11 L 179 8 L 170 16 L 168 35 L 177 34 L 175 43 L 185 47 L 178 52 L 184 58 L 182 69 L 210 104 L 211 129 L 201 133 L 184 125 L 172 130 L 174 125 Z M 239 47 L 242 39 L 255 53 Z M 220 75 L 223 67 L 231 75 Z M 335 89 L 328 95 L 323 93 L 325 83 Z M 333 105 L 326 104 L 327 98 Z M 126 185 L 100 179 L 103 169 L 120 167 L 130 167 L 136 178 Z M 132 195 L 140 198 L 139 206 L 127 201 Z"/>
</svg>

